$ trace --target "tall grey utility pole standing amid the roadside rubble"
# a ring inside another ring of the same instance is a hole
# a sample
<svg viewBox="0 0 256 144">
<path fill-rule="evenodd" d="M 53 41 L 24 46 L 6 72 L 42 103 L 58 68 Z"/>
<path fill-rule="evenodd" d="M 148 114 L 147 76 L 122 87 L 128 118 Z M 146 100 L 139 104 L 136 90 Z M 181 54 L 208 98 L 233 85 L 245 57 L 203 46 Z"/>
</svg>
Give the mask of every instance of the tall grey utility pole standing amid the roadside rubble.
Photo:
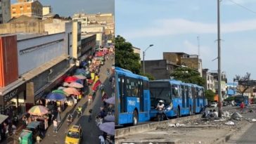
<svg viewBox="0 0 256 144">
<path fill-rule="evenodd" d="M 221 70 L 221 48 L 220 48 L 220 21 L 219 21 L 219 1 L 217 0 L 217 22 L 218 22 L 218 95 L 219 112 L 218 117 L 222 117 L 222 70 Z"/>
</svg>

